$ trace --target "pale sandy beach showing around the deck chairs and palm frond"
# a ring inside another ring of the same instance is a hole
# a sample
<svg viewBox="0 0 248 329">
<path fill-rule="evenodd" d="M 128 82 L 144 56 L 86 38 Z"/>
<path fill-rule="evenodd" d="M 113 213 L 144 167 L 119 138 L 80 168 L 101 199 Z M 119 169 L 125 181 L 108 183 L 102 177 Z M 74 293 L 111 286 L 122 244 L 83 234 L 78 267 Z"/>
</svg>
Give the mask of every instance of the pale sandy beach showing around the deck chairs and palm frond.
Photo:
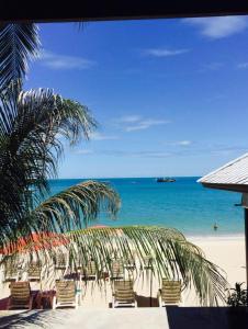
<svg viewBox="0 0 248 329">
<path fill-rule="evenodd" d="M 198 245 L 204 251 L 206 258 L 217 264 L 226 273 L 226 279 L 230 286 L 235 282 L 246 281 L 246 264 L 245 264 L 245 237 L 243 236 L 224 236 L 224 237 L 189 237 L 189 240 Z M 159 288 L 159 282 L 153 279 L 150 286 L 149 274 L 147 280 L 143 281 L 136 275 L 135 291 L 140 296 L 139 306 L 149 306 L 149 296 L 156 299 Z M 37 283 L 31 283 L 33 290 L 38 288 Z M 9 295 L 9 284 L 1 285 L 2 298 Z M 154 300 L 155 300 L 154 299 Z M 83 287 L 83 296 L 81 307 L 83 308 L 109 308 L 112 302 L 111 284 L 106 283 L 104 290 L 100 290 L 94 282 L 90 282 Z M 183 292 L 181 306 L 198 306 L 199 303 L 192 291 Z M 154 304 L 156 306 L 156 303 Z"/>
</svg>

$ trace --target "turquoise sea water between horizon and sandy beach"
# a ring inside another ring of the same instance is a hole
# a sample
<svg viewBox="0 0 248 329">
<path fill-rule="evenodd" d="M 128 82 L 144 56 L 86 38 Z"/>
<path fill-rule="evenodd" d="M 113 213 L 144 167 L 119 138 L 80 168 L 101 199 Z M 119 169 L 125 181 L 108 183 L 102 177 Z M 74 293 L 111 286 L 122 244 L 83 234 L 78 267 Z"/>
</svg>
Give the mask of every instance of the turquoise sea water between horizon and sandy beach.
<svg viewBox="0 0 248 329">
<path fill-rule="evenodd" d="M 122 208 L 116 220 L 101 214 L 95 224 L 160 225 L 174 227 L 191 236 L 244 234 L 240 194 L 210 190 L 196 183 L 198 178 L 176 178 L 174 183 L 157 183 L 155 178 L 103 179 L 120 193 Z M 52 180 L 57 193 L 82 180 Z M 218 229 L 214 231 L 213 225 Z"/>
</svg>

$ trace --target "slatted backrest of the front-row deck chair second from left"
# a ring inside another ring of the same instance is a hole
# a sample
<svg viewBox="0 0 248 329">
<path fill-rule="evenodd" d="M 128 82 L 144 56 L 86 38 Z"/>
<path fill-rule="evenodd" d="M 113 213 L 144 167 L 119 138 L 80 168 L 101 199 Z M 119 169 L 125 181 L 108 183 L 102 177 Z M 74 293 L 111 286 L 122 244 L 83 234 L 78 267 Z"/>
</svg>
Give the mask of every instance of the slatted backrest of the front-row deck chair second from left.
<svg viewBox="0 0 248 329">
<path fill-rule="evenodd" d="M 55 285 L 58 303 L 75 302 L 76 284 L 74 281 L 56 281 Z"/>
</svg>

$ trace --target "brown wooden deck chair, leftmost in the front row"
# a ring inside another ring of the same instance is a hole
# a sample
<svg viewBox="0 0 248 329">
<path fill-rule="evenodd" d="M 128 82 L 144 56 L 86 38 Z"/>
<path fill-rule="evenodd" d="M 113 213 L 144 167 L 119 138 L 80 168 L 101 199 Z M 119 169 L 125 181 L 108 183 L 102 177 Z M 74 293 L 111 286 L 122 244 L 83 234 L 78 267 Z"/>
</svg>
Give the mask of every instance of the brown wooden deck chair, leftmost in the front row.
<svg viewBox="0 0 248 329">
<path fill-rule="evenodd" d="M 33 295 L 31 293 L 30 283 L 27 281 L 19 281 L 10 283 L 10 297 L 8 300 L 8 309 L 29 308 L 32 309 Z"/>
</svg>

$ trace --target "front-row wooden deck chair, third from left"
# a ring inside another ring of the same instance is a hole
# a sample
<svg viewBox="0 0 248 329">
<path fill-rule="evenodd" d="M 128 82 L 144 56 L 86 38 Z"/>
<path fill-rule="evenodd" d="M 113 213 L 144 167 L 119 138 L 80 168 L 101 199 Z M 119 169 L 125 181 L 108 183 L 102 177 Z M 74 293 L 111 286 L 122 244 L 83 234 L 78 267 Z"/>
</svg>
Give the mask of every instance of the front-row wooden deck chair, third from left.
<svg viewBox="0 0 248 329">
<path fill-rule="evenodd" d="M 112 307 L 133 306 L 137 307 L 136 293 L 133 288 L 134 284 L 131 280 L 114 281 L 114 292 L 112 298 Z"/>
</svg>

